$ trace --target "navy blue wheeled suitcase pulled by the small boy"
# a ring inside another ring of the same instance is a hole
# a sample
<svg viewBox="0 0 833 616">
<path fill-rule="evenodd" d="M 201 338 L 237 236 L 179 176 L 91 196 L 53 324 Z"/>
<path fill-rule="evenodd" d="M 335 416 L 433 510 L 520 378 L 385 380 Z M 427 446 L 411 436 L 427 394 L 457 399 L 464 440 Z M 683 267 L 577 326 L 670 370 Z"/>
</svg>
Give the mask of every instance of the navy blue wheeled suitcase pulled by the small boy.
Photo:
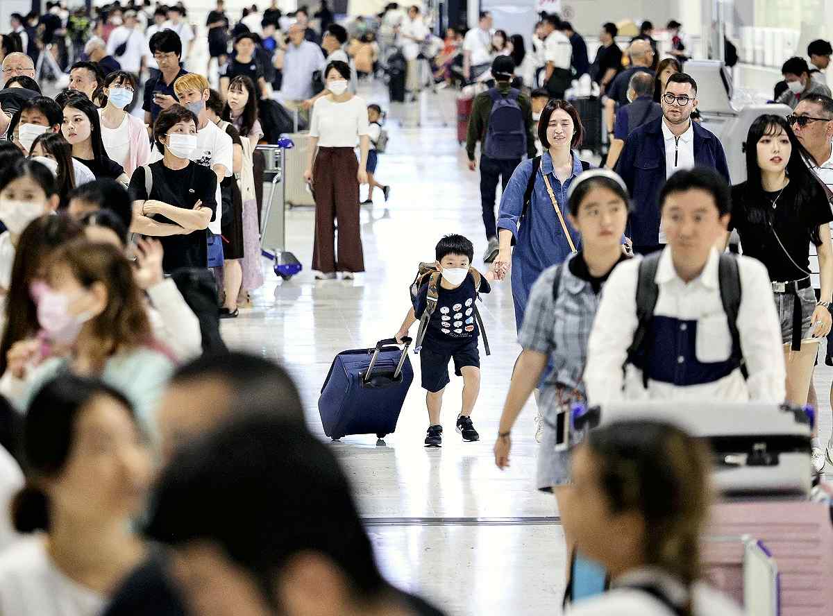
<svg viewBox="0 0 833 616">
<path fill-rule="evenodd" d="M 408 358 L 411 338 L 400 349 L 395 338 L 379 340 L 372 349 L 345 350 L 332 360 L 318 398 L 324 434 L 332 440 L 347 435 L 376 434 L 383 439 L 397 420 L 414 372 Z"/>
</svg>

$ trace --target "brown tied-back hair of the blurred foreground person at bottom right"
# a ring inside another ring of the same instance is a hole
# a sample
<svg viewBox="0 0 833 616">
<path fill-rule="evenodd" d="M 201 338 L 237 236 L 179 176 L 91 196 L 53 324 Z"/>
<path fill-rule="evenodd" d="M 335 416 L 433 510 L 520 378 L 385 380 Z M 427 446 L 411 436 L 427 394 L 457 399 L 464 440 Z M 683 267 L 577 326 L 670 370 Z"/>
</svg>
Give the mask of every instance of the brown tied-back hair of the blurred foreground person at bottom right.
<svg viewBox="0 0 833 616">
<path fill-rule="evenodd" d="M 674 425 L 644 420 L 591 430 L 586 442 L 611 510 L 635 511 L 645 521 L 644 564 L 690 587 L 701 577 L 711 500 L 706 447 Z"/>
</svg>

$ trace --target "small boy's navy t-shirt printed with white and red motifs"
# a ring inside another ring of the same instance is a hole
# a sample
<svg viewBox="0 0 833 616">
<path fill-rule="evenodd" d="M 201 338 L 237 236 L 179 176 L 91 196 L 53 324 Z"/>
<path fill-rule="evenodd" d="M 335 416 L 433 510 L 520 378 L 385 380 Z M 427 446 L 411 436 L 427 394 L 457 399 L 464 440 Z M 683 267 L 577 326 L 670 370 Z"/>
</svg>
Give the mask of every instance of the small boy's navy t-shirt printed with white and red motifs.
<svg viewBox="0 0 833 616">
<path fill-rule="evenodd" d="M 481 280 L 480 292 L 488 293 L 491 286 L 485 278 Z M 461 346 L 470 344 L 472 341 L 477 344 L 477 335 L 480 333 L 477 321 L 474 318 L 474 302 L 476 291 L 474 276 L 469 273 L 466 280 L 456 289 L 443 289 L 441 285 L 436 286 L 439 299 L 436 302 L 436 310 L 428 321 L 428 329 L 425 333 L 425 340 L 422 345 L 435 353 L 451 354 Z M 425 312 L 428 303 L 428 285 L 422 285 L 413 300 L 414 316 L 420 319 Z"/>
</svg>

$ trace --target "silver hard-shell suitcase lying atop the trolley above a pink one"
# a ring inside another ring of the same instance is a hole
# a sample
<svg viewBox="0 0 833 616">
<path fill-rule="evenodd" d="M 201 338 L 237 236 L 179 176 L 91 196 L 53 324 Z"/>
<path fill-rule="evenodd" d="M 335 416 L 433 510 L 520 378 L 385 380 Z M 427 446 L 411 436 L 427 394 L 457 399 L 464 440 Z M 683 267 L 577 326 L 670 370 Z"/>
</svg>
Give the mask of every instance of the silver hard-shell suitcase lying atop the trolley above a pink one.
<svg viewBox="0 0 833 616">
<path fill-rule="evenodd" d="M 712 480 L 722 494 L 810 494 L 812 422 L 801 408 L 761 402 L 628 402 L 576 410 L 572 424 L 583 430 L 634 419 L 668 421 L 707 440 L 715 457 Z"/>
</svg>

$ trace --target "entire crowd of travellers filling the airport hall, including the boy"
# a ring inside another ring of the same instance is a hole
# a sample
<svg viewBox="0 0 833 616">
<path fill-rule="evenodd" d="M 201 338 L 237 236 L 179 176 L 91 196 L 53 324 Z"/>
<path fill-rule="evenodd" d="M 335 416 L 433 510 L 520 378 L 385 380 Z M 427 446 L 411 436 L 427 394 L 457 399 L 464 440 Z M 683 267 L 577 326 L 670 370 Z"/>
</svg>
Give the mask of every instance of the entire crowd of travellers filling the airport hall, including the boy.
<svg viewBox="0 0 833 616">
<path fill-rule="evenodd" d="M 0 614 L 442 614 L 382 576 L 290 375 L 228 352 L 218 326 L 263 285 L 257 145 L 290 132 L 282 113 L 308 129 L 317 278 L 364 271 L 360 187 L 369 201 L 391 187 L 375 177 L 384 112 L 357 83 L 397 56 L 414 96 L 482 84 L 466 154 L 491 266 L 472 267 L 468 238 L 443 237 L 396 335 L 422 320 L 425 445 L 442 445 L 451 361 L 456 430 L 481 438 L 476 301 L 508 276 L 521 354 L 494 457 L 510 463 L 534 396 L 536 487 L 555 494 L 570 553 L 613 584 L 571 613 L 647 614 L 660 599 L 675 614 L 740 614 L 701 579 L 702 443 L 621 421 L 563 446 L 556 426 L 586 402 L 817 403 L 833 325 L 830 43 L 811 43 L 815 69 L 785 62 L 773 102 L 792 112 L 753 122 L 746 181 L 733 185 L 699 122 L 676 21 L 668 57 L 650 22 L 624 53 L 606 23 L 591 62 L 555 14 L 526 50 L 489 12 L 440 40 L 416 6 L 345 26 L 321 2 L 315 29 L 307 8 L 272 2 L 232 27 L 218 0 L 197 72 L 186 8 L 150 8 L 115 3 L 92 18 L 47 2 L 2 35 Z M 55 97 L 35 81 L 47 81 L 41 54 L 67 72 Z M 611 136 L 601 168 L 582 160 L 591 127 L 566 100 L 589 82 Z M 820 438 L 816 474 L 833 464 Z"/>
</svg>

